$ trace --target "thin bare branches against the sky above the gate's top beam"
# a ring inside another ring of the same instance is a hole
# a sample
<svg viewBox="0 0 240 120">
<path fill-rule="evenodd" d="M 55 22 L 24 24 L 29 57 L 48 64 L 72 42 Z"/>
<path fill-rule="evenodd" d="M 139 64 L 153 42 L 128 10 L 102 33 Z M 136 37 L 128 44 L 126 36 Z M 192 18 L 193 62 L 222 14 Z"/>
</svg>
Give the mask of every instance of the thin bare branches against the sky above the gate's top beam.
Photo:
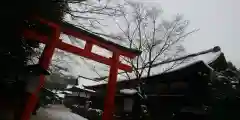
<svg viewBox="0 0 240 120">
<path fill-rule="evenodd" d="M 97 29 L 99 33 L 103 33 L 102 28 L 106 25 L 102 21 L 106 17 L 121 15 L 118 5 L 106 0 L 68 1 L 68 5 L 68 9 L 64 11 L 65 20 L 84 29 Z"/>
</svg>

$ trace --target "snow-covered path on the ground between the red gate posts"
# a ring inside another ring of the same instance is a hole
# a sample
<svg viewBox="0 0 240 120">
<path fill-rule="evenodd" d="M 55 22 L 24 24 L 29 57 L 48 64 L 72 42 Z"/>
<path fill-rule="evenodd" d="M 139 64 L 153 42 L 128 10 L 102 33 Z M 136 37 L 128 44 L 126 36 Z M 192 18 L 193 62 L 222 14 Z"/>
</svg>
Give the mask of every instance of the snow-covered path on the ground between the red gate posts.
<svg viewBox="0 0 240 120">
<path fill-rule="evenodd" d="M 70 112 L 63 105 L 53 105 L 50 108 L 40 108 L 36 116 L 31 120 L 87 120 L 77 114 Z"/>
</svg>

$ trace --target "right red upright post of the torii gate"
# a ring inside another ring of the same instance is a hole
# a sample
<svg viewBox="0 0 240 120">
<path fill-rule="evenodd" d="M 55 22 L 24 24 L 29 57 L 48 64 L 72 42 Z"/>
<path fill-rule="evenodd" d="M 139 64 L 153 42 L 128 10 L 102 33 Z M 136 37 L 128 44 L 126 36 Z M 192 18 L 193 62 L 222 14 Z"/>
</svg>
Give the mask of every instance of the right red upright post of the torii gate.
<svg viewBox="0 0 240 120">
<path fill-rule="evenodd" d="M 114 98 L 116 91 L 116 82 L 118 75 L 119 54 L 113 53 L 112 63 L 110 66 L 110 75 L 107 86 L 107 94 L 104 100 L 104 111 L 102 120 L 112 120 L 114 113 Z"/>
</svg>

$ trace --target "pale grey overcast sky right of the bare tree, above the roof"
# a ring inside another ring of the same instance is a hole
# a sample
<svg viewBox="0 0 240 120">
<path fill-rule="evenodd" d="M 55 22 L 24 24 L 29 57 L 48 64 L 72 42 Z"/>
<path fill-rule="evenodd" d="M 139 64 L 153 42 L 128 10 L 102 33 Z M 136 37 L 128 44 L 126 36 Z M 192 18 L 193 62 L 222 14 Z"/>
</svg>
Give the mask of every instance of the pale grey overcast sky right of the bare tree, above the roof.
<svg viewBox="0 0 240 120">
<path fill-rule="evenodd" d="M 240 67 L 240 0 L 144 0 L 159 4 L 165 16 L 183 14 L 189 30 L 200 28 L 186 39 L 187 51 L 197 52 L 219 45 L 227 60 Z"/>
</svg>

